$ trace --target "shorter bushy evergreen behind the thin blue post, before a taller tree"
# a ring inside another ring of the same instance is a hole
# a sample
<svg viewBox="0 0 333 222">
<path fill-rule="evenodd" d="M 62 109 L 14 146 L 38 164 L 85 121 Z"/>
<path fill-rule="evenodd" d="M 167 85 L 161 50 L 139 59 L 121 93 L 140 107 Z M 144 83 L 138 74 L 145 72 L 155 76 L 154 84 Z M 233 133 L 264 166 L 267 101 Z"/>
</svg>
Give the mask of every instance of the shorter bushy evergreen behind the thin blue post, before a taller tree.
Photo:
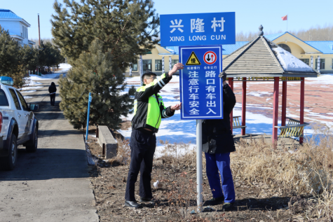
<svg viewBox="0 0 333 222">
<path fill-rule="evenodd" d="M 120 116 L 127 116 L 132 109 L 130 95 L 135 93 L 134 87 L 129 93 L 122 93 L 126 88 L 124 80 L 111 50 L 104 53 L 102 42 L 95 40 L 88 52 L 73 62 L 66 78 L 60 78 L 60 109 L 74 128 L 86 127 L 88 94 L 92 92 L 90 124 L 118 129 Z"/>
</svg>

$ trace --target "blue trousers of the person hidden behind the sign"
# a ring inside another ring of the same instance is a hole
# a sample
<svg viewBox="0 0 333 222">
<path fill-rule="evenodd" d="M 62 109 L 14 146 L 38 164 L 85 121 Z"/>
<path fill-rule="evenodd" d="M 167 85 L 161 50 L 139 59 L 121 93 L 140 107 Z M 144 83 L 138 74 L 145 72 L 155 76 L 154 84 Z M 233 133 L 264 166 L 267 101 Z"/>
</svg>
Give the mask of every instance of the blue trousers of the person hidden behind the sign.
<svg viewBox="0 0 333 222">
<path fill-rule="evenodd" d="M 233 187 L 233 176 L 230 169 L 230 153 L 205 153 L 206 173 L 212 197 L 222 197 L 224 202 L 235 202 L 235 188 Z M 219 180 L 221 174 L 221 182 Z M 223 193 L 222 193 L 223 190 Z"/>
</svg>

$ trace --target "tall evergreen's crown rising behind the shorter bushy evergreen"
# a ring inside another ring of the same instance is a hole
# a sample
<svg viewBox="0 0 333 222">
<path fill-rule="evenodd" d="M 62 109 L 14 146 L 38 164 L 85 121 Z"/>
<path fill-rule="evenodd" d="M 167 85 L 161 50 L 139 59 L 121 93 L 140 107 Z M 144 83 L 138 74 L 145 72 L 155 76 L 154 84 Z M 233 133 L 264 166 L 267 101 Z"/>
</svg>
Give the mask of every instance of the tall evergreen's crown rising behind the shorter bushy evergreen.
<svg viewBox="0 0 333 222">
<path fill-rule="evenodd" d="M 158 43 L 159 18 L 151 0 L 64 0 L 64 4 L 62 8 L 55 1 L 52 34 L 70 64 L 100 39 L 102 51 L 114 55 L 125 72 L 129 62 Z"/>
</svg>

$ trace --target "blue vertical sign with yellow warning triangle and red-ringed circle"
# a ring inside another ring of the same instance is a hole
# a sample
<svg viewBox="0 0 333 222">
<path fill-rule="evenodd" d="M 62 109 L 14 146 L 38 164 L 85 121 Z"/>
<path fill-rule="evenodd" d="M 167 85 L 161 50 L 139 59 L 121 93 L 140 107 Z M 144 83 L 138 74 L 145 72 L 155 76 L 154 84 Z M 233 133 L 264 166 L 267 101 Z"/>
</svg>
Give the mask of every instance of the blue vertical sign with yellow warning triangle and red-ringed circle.
<svg viewBox="0 0 333 222">
<path fill-rule="evenodd" d="M 180 46 L 182 120 L 223 118 L 222 46 Z"/>
</svg>

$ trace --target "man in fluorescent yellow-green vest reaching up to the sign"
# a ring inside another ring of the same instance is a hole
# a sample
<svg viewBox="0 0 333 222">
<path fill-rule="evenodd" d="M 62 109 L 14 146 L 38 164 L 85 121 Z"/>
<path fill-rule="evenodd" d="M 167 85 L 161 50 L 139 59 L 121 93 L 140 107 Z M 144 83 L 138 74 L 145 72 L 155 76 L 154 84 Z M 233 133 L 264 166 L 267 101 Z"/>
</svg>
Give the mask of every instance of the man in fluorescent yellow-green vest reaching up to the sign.
<svg viewBox="0 0 333 222">
<path fill-rule="evenodd" d="M 125 206 L 139 208 L 135 200 L 135 182 L 140 172 L 140 202 L 154 203 L 151 193 L 151 170 L 156 148 L 156 132 L 162 118 L 169 118 L 182 104 L 165 107 L 158 92 L 167 84 L 179 69 L 181 63 L 175 64 L 171 71 L 156 77 L 154 73 L 142 76 L 144 85 L 135 92 L 134 117 L 130 136 L 130 170 L 128 171 L 125 191 Z"/>
</svg>

